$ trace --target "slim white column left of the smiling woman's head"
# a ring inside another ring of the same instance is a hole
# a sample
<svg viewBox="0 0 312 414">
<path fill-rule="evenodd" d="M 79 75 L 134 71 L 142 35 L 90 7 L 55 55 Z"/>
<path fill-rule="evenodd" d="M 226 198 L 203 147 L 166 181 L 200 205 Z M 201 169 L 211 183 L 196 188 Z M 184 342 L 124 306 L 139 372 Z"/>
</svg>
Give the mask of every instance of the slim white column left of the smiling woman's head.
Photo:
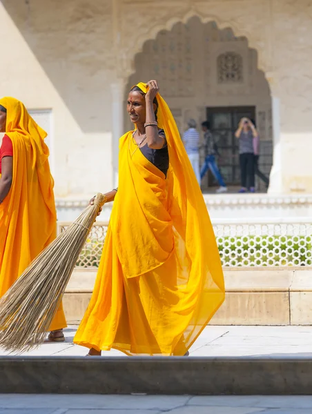
<svg viewBox="0 0 312 414">
<path fill-rule="evenodd" d="M 113 188 L 118 186 L 119 138 L 124 134 L 124 88 L 126 79 L 117 79 L 110 85 L 112 95 L 112 164 Z"/>
</svg>

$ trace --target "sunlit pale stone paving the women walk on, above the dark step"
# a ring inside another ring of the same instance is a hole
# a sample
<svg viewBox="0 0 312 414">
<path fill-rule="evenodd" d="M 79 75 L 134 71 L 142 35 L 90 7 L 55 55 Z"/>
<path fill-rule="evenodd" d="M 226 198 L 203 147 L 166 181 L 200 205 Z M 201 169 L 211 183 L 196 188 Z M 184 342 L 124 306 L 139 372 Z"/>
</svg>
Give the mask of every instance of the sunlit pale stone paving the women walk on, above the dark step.
<svg viewBox="0 0 312 414">
<path fill-rule="evenodd" d="M 65 330 L 66 342 L 46 342 L 23 355 L 81 355 L 87 348 L 72 343 L 77 326 Z M 312 326 L 207 326 L 190 350 L 191 356 L 312 356 Z M 1 351 L 0 355 L 6 355 Z M 119 351 L 104 356 L 124 355 Z M 311 411 L 312 413 L 312 411 Z M 1 414 L 1 413 L 0 413 Z"/>
</svg>

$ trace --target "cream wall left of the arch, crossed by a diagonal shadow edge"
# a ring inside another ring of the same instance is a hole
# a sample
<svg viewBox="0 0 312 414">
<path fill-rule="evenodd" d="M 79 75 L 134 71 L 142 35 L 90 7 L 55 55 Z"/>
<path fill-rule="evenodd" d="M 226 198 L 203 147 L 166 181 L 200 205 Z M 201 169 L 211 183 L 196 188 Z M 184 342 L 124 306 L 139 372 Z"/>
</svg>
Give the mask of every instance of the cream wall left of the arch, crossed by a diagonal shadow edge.
<svg viewBox="0 0 312 414">
<path fill-rule="evenodd" d="M 92 4 L 91 4 L 92 3 Z M 112 184 L 109 1 L 4 0 L 0 94 L 50 109 L 57 197 Z"/>
</svg>

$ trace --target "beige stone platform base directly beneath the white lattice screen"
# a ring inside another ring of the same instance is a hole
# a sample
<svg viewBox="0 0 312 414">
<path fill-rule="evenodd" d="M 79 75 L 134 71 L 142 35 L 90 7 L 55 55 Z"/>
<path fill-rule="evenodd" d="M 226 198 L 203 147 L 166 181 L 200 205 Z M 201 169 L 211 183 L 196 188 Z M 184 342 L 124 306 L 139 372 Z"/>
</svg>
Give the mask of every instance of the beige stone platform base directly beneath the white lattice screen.
<svg viewBox="0 0 312 414">
<path fill-rule="evenodd" d="M 97 269 L 76 268 L 63 302 L 68 324 L 79 324 Z M 312 268 L 224 269 L 226 299 L 213 325 L 311 325 Z"/>
</svg>

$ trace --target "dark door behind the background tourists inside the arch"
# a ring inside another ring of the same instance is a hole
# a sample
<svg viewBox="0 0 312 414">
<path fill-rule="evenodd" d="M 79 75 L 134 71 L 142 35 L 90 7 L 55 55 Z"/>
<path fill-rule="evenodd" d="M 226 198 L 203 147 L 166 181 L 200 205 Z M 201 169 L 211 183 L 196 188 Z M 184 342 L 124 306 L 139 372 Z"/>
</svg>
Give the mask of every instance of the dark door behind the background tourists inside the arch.
<svg viewBox="0 0 312 414">
<path fill-rule="evenodd" d="M 221 155 L 218 159 L 218 166 L 224 181 L 226 185 L 238 186 L 240 185 L 240 163 L 235 131 L 242 117 L 255 119 L 255 106 L 206 108 L 206 114 Z M 208 176 L 207 184 L 208 186 L 212 184 L 211 175 Z"/>
</svg>

